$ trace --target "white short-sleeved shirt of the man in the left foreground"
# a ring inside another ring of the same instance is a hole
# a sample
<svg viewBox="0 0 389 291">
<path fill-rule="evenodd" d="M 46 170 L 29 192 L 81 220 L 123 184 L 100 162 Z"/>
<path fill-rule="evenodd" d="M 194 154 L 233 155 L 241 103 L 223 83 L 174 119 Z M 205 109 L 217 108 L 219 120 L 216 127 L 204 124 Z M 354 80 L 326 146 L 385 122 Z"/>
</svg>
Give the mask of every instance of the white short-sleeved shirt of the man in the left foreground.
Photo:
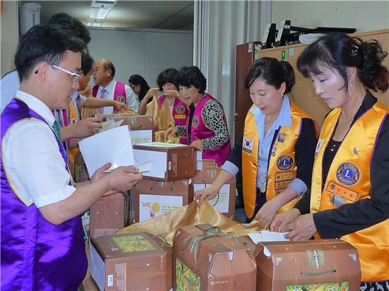
<svg viewBox="0 0 389 291">
<path fill-rule="evenodd" d="M 23 91 L 16 97 L 47 124 L 54 124 L 54 116 L 43 102 Z M 22 119 L 8 129 L 1 144 L 9 184 L 25 205 L 35 203 L 37 208 L 62 201 L 76 190 L 69 186 L 70 173 L 47 124 L 35 118 Z"/>
</svg>

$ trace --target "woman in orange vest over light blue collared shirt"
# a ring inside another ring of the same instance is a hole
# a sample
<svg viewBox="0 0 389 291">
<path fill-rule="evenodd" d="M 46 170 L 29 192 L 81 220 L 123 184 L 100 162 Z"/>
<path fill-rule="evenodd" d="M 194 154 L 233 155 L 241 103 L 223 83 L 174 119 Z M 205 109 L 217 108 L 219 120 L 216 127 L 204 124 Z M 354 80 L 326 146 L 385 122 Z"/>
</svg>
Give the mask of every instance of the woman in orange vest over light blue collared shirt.
<svg viewBox="0 0 389 291">
<path fill-rule="evenodd" d="M 246 222 L 267 228 L 277 211 L 289 210 L 310 187 L 317 125 L 288 97 L 294 71 L 286 61 L 262 58 L 248 71 L 245 87 L 254 105 L 243 135 L 211 186 L 198 191 L 199 204 L 216 197 L 238 171 L 243 177 Z"/>
</svg>

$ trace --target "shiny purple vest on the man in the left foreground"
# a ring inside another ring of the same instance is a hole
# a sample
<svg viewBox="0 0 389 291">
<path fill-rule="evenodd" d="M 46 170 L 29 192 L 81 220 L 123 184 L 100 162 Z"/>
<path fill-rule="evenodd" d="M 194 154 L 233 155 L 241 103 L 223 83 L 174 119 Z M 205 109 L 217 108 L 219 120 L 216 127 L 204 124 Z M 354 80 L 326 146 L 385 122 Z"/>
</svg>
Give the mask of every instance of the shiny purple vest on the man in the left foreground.
<svg viewBox="0 0 389 291">
<path fill-rule="evenodd" d="M 46 122 L 21 100 L 11 100 L 1 114 L 1 141 L 12 124 L 30 117 Z M 60 225 L 47 222 L 35 204 L 26 206 L 16 196 L 1 162 L 1 290 L 77 290 L 87 267 L 81 215 Z"/>
</svg>

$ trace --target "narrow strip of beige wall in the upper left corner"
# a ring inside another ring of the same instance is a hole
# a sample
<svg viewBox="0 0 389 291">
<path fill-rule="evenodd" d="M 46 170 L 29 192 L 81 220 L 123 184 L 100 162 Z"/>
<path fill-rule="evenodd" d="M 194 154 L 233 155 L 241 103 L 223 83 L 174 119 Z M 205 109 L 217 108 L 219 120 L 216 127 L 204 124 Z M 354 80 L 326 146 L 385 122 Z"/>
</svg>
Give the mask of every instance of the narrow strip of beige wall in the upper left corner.
<svg viewBox="0 0 389 291">
<path fill-rule="evenodd" d="M 18 1 L 3 1 L 1 18 L 1 72 L 3 76 L 15 68 L 13 59 L 18 48 Z"/>
</svg>

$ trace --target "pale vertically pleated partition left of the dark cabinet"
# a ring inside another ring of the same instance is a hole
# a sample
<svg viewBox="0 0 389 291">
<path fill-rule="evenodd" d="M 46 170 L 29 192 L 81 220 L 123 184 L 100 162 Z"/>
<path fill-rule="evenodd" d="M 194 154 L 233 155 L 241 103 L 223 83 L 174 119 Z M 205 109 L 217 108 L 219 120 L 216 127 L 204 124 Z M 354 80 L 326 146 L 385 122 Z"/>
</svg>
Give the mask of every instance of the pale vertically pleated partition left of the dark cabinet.
<svg viewBox="0 0 389 291">
<path fill-rule="evenodd" d="M 261 11 L 265 11 L 263 15 Z M 194 65 L 207 78 L 207 92 L 223 105 L 233 140 L 236 45 L 260 39 L 270 20 L 269 1 L 195 1 Z"/>
</svg>

